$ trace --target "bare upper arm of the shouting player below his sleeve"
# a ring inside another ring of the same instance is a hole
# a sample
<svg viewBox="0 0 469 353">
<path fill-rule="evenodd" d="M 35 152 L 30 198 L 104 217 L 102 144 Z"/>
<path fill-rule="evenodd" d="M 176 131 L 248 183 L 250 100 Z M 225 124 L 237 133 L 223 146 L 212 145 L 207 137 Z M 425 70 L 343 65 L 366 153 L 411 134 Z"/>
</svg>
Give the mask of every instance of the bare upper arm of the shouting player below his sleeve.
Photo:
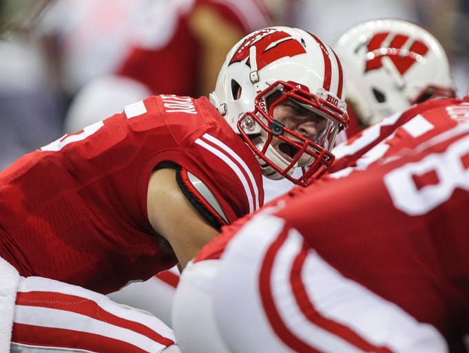
<svg viewBox="0 0 469 353">
<path fill-rule="evenodd" d="M 155 231 L 171 244 L 180 269 L 218 234 L 181 191 L 176 181 L 176 169 L 158 169 L 152 173 L 147 211 Z"/>
</svg>

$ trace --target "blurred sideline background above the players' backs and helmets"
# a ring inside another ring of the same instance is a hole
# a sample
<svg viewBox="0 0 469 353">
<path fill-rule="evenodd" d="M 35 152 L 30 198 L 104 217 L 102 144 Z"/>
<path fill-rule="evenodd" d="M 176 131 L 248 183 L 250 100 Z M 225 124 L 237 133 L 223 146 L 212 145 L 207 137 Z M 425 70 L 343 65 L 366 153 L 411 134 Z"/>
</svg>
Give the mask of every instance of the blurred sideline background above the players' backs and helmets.
<svg viewBox="0 0 469 353">
<path fill-rule="evenodd" d="M 332 45 L 368 19 L 419 23 L 469 74 L 469 0 L 1 0 L 0 170 L 150 94 L 208 95 L 229 48 L 267 25 Z"/>
</svg>

